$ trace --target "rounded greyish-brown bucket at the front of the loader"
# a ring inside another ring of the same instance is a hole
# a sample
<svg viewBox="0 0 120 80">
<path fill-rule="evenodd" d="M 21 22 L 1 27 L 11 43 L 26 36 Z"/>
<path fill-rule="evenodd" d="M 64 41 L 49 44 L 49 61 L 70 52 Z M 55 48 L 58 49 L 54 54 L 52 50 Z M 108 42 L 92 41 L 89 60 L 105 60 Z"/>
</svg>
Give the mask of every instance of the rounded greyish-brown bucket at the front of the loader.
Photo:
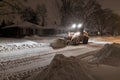
<svg viewBox="0 0 120 80">
<path fill-rule="evenodd" d="M 54 49 L 63 48 L 67 45 L 64 39 L 57 39 L 50 44 L 50 46 Z"/>
</svg>

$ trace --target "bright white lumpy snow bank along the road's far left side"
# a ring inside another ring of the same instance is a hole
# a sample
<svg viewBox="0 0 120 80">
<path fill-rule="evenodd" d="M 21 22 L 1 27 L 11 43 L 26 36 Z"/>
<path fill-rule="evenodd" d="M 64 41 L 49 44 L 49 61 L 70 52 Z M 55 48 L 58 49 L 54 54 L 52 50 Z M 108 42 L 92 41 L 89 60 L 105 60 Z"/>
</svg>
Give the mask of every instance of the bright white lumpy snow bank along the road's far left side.
<svg viewBox="0 0 120 80">
<path fill-rule="evenodd" d="M 0 52 L 14 51 L 28 48 L 36 48 L 44 46 L 43 43 L 37 43 L 34 41 L 24 41 L 15 43 L 4 43 L 0 44 Z"/>
</svg>

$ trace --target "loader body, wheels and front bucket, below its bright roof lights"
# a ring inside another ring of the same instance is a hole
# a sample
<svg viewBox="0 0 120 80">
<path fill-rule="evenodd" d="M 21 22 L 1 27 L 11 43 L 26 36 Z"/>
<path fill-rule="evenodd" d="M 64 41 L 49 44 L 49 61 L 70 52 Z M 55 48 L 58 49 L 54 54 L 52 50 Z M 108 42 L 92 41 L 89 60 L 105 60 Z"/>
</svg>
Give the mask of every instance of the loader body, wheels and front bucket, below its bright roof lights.
<svg viewBox="0 0 120 80">
<path fill-rule="evenodd" d="M 53 49 L 63 48 L 67 45 L 79 45 L 80 43 L 88 44 L 88 33 L 87 32 L 68 32 L 64 38 L 56 39 L 50 44 Z"/>
</svg>

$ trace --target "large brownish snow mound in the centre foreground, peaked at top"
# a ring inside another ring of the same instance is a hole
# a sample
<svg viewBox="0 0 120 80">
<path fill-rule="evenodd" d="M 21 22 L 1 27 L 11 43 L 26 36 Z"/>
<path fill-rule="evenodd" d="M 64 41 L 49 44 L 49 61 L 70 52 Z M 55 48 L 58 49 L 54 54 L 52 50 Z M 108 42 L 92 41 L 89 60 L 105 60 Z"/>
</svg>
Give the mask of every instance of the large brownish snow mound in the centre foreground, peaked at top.
<svg viewBox="0 0 120 80">
<path fill-rule="evenodd" d="M 76 57 L 55 56 L 51 64 L 34 77 L 27 80 L 94 80 L 84 62 Z"/>
</svg>

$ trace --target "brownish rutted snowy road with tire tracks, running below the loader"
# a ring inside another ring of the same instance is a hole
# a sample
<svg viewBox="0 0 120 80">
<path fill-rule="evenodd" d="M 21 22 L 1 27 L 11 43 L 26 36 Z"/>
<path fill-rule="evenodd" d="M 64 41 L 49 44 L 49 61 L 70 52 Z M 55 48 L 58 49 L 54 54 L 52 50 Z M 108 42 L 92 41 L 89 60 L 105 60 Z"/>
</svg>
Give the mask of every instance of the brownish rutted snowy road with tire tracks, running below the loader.
<svg viewBox="0 0 120 80">
<path fill-rule="evenodd" d="M 9 60 L 1 62 L 0 64 L 0 80 L 2 78 L 23 75 L 23 73 L 30 74 L 29 72 L 34 72 L 36 69 L 41 69 L 41 67 L 47 66 L 55 54 L 64 54 L 65 56 L 77 56 L 84 54 L 89 51 L 94 51 L 99 49 L 99 47 L 93 46 L 68 46 L 60 50 L 51 50 L 49 52 L 35 53 L 34 56 L 31 55 L 25 58 L 18 58 L 15 60 Z M 17 58 L 17 57 L 16 57 Z"/>
</svg>

